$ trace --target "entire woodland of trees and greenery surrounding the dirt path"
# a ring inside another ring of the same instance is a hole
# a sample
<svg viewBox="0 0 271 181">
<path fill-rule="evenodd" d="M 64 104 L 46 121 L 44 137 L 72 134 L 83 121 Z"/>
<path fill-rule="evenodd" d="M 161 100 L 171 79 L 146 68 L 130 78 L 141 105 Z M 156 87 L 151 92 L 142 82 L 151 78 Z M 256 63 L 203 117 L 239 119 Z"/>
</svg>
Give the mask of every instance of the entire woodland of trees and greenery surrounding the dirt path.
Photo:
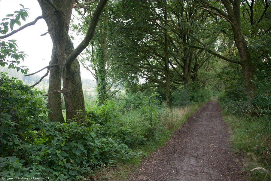
<svg viewBox="0 0 271 181">
<path fill-rule="evenodd" d="M 1 177 L 97 179 L 218 97 L 247 169 L 265 169 L 253 179 L 270 180 L 269 0 L 38 3 L 37 18 L 21 5 L 1 21 Z M 43 20 L 51 60 L 44 76 L 27 75 L 12 35 Z"/>
</svg>

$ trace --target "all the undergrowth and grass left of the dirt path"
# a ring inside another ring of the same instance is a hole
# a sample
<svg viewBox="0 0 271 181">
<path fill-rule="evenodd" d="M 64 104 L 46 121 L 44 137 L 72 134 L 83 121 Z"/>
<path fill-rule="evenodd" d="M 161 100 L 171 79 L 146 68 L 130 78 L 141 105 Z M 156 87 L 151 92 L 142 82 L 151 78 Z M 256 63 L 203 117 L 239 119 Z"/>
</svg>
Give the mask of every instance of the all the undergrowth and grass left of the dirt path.
<svg viewBox="0 0 271 181">
<path fill-rule="evenodd" d="M 155 92 L 127 94 L 86 105 L 86 125 L 59 123 L 42 94 L 1 73 L 1 180 L 111 179 L 101 170 L 136 165 L 197 108 L 167 109 Z"/>
</svg>

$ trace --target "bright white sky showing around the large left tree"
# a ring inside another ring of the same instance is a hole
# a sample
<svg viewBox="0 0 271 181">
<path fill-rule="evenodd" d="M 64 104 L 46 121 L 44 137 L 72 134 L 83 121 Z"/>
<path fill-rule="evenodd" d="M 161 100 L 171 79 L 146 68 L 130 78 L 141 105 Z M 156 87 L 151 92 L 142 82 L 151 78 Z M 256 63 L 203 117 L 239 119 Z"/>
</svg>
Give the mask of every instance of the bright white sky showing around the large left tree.
<svg viewBox="0 0 271 181">
<path fill-rule="evenodd" d="M 20 4 L 24 5 L 24 8 L 29 8 L 27 10 L 29 12 L 29 17 L 24 22 L 22 19 L 21 26 L 26 23 L 32 22 L 35 20 L 36 17 L 42 15 L 41 8 L 38 4 L 38 1 L 0 1 L 1 3 L 1 11 L 0 11 L 0 19 L 2 21 L 3 18 L 6 17 L 7 14 L 14 14 L 14 11 L 19 11 L 22 9 Z M 14 25 L 13 29 L 18 29 L 20 26 L 17 24 Z M 10 32 L 10 31 L 9 31 Z M 9 33 L 8 32 L 8 33 Z M 14 35 L 11 35 L 6 40 L 15 39 L 17 40 L 18 50 L 25 51 L 27 54 L 24 61 L 21 61 L 19 66 L 26 66 L 29 68 L 29 73 L 37 72 L 38 70 L 46 67 L 49 65 L 51 60 L 51 53 L 52 53 L 52 40 L 50 35 L 47 33 L 44 36 L 40 36 L 47 32 L 47 25 L 43 19 L 38 20 L 35 25 L 29 26 Z M 74 35 L 73 35 L 74 36 Z M 79 41 L 82 38 L 77 38 L 78 41 L 74 41 L 74 46 L 79 44 Z M 47 69 L 37 73 L 36 75 L 44 75 Z M 94 79 L 93 76 L 80 66 L 81 71 L 81 78 L 90 78 Z M 28 74 L 29 74 L 28 73 Z M 47 76 L 49 78 L 49 76 Z"/>
</svg>

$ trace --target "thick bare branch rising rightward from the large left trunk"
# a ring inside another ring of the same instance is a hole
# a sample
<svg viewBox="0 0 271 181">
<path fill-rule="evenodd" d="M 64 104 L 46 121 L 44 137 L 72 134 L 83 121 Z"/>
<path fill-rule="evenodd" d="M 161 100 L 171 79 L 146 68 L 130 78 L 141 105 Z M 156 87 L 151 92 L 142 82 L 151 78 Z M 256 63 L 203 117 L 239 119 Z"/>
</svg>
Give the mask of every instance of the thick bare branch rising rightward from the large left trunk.
<svg viewBox="0 0 271 181">
<path fill-rule="evenodd" d="M 99 21 L 100 14 L 102 13 L 103 8 L 105 7 L 107 0 L 100 1 L 97 5 L 95 12 L 93 13 L 92 20 L 90 22 L 89 29 L 87 30 L 87 35 L 85 36 L 84 40 L 78 45 L 78 47 L 72 51 L 72 53 L 68 56 L 67 60 L 65 61 L 65 66 L 70 67 L 76 57 L 87 47 L 90 43 L 90 40 L 93 38 L 96 25 Z"/>
</svg>

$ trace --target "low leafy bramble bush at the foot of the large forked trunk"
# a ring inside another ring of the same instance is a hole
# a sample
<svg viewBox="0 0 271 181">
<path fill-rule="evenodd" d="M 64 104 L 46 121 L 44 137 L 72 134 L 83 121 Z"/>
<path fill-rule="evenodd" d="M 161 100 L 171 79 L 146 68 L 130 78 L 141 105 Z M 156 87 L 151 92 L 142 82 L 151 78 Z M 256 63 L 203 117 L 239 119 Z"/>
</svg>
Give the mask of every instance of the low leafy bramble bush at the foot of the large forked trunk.
<svg viewBox="0 0 271 181">
<path fill-rule="evenodd" d="M 59 173 L 60 180 L 78 179 L 91 174 L 94 167 L 114 165 L 138 154 L 114 139 L 101 137 L 98 125 L 90 127 L 77 122 L 58 123 L 56 136 L 50 143 L 46 164 Z"/>
</svg>

